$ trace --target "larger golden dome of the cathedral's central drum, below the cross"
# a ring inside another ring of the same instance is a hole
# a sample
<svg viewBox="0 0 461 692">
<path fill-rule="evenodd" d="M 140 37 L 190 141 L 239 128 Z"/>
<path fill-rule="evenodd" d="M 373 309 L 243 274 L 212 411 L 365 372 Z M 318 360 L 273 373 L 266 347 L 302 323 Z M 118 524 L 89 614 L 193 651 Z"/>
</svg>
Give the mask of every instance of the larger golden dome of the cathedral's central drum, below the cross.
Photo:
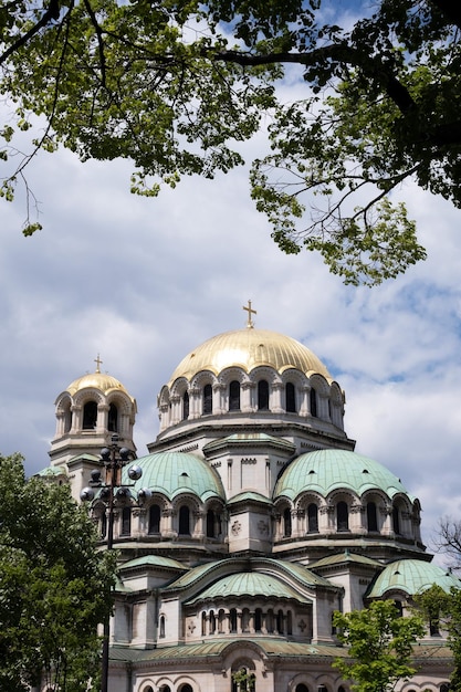
<svg viewBox="0 0 461 692">
<path fill-rule="evenodd" d="M 274 368 L 280 374 L 289 368 L 305 374 L 314 371 L 332 381 L 322 360 L 296 339 L 269 329 L 247 327 L 224 332 L 198 346 L 181 360 L 169 384 L 179 377 L 190 381 L 201 370 L 211 370 L 218 375 L 226 368 L 240 367 L 251 373 L 260 366 Z"/>
</svg>

